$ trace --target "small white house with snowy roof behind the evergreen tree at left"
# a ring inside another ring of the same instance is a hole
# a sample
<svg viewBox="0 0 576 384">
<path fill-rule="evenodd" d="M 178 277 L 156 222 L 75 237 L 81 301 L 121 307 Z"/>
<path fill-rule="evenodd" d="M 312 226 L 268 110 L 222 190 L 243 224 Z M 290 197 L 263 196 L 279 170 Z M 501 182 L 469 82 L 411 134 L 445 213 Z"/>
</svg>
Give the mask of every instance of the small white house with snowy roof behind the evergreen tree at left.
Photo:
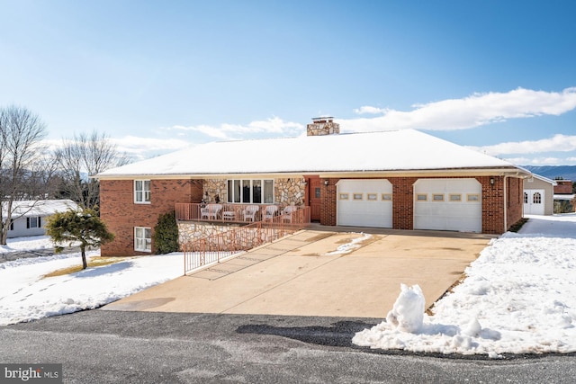
<svg viewBox="0 0 576 384">
<path fill-rule="evenodd" d="M 42 236 L 45 233 L 44 224 L 50 215 L 78 208 L 76 202 L 71 200 L 14 201 L 8 238 Z M 7 204 L 2 209 L 2 217 L 5 218 L 8 214 Z"/>
</svg>

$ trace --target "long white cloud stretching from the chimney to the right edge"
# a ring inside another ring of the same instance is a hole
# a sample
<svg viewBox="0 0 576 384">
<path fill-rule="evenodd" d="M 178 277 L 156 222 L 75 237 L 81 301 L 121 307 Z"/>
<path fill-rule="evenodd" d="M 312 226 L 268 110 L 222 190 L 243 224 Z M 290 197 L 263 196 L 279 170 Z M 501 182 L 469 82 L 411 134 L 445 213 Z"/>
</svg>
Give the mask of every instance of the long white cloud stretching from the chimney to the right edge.
<svg viewBox="0 0 576 384">
<path fill-rule="evenodd" d="M 416 104 L 402 112 L 363 106 L 356 113 L 381 112 L 383 116 L 338 120 L 344 131 L 392 129 L 455 130 L 471 129 L 497 121 L 560 115 L 576 108 L 576 87 L 562 92 L 518 88 L 507 93 L 473 94 L 463 99 Z"/>
</svg>

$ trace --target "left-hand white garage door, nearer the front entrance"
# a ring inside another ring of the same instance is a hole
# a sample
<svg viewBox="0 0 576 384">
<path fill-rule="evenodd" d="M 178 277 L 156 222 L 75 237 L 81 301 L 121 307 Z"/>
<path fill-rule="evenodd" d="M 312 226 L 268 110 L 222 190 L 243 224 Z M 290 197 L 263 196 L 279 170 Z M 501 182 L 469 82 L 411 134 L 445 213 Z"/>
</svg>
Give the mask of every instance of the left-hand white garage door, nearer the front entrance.
<svg viewBox="0 0 576 384">
<path fill-rule="evenodd" d="M 336 185 L 339 226 L 392 228 L 392 183 L 340 180 Z"/>
</svg>

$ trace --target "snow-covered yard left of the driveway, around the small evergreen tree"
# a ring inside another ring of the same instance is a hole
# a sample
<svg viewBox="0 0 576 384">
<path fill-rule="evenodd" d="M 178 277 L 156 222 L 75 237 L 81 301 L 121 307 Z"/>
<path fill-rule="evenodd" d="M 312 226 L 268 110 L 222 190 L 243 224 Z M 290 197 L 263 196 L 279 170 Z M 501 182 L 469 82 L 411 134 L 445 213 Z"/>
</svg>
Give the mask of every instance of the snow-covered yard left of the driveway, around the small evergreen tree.
<svg viewBox="0 0 576 384">
<path fill-rule="evenodd" d="M 10 239 L 2 252 L 52 248 L 49 237 Z M 6 249 L 9 248 L 9 249 Z M 100 251 L 86 253 L 88 258 Z M 183 254 L 119 259 L 65 276 L 49 272 L 82 265 L 79 253 L 23 258 L 0 263 L 0 326 L 102 307 L 184 272 Z"/>
</svg>

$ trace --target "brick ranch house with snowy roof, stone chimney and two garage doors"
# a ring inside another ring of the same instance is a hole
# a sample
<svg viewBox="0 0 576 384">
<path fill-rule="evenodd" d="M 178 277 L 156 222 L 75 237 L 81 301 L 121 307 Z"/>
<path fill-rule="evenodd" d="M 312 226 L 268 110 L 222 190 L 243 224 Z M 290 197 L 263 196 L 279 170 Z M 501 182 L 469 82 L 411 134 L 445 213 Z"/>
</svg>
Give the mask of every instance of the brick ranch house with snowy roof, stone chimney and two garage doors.
<svg viewBox="0 0 576 384">
<path fill-rule="evenodd" d="M 201 201 L 309 206 L 326 226 L 501 234 L 522 219 L 529 176 L 417 130 L 340 134 L 319 118 L 302 137 L 212 142 L 96 175 L 116 235 L 102 255 L 154 252 L 158 216 Z"/>
</svg>

